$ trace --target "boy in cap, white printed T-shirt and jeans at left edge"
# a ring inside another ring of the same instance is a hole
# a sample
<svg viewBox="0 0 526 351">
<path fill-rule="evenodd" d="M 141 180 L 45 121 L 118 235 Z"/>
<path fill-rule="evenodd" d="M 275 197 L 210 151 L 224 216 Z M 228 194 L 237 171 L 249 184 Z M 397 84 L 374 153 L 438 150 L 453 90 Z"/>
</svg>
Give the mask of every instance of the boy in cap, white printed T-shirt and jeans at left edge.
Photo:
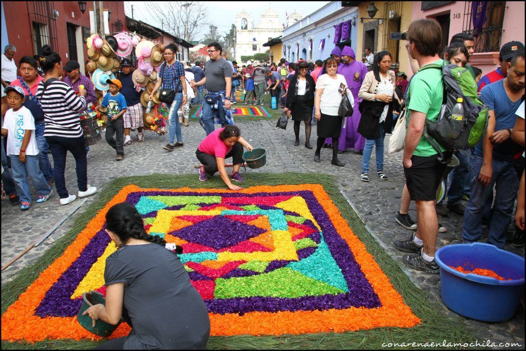
<svg viewBox="0 0 526 351">
<path fill-rule="evenodd" d="M 37 203 L 46 201 L 53 190 L 40 170 L 36 143 L 35 119 L 29 109 L 22 106 L 25 93 L 21 87 L 8 86 L 4 90 L 9 109 L 5 112 L 2 136 L 7 136 L 7 154 L 11 156 L 11 169 L 21 201 L 20 209 L 31 207 L 31 192 L 27 179 L 31 179 L 38 193 Z"/>
</svg>

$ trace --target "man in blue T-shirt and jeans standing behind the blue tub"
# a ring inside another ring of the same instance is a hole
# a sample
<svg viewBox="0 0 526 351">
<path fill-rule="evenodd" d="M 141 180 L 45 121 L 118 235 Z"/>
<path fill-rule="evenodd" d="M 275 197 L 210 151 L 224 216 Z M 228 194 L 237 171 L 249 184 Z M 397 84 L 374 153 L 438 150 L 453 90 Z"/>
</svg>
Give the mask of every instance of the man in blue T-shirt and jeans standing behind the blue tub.
<svg viewBox="0 0 526 351">
<path fill-rule="evenodd" d="M 462 228 L 464 242 L 476 242 L 481 238 L 482 212 L 496 184 L 488 243 L 501 249 L 506 243 L 506 230 L 519 189 L 510 137 L 517 118 L 515 111 L 524 95 L 524 50 L 513 56 L 507 68 L 506 78 L 485 86 L 481 91 L 480 98 L 490 109 L 489 121 L 484 138 L 475 147 L 473 168 L 478 177 L 471 185 Z"/>
</svg>

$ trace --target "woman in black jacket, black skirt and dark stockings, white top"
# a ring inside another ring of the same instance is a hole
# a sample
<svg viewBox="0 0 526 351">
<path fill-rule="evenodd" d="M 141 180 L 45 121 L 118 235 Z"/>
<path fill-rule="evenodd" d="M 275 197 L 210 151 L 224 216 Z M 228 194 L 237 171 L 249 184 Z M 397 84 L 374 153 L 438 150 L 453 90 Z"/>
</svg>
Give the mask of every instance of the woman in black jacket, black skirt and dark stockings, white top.
<svg viewBox="0 0 526 351">
<path fill-rule="evenodd" d="M 296 136 L 295 146 L 299 145 L 299 125 L 301 121 L 305 122 L 305 147 L 312 149 L 310 146 L 310 131 L 312 126 L 312 107 L 314 106 L 315 82 L 309 74 L 309 64 L 307 61 L 301 61 L 298 64 L 296 74 L 290 79 L 287 107 L 285 112 L 292 111 L 292 120 L 294 120 L 294 135 Z"/>
</svg>

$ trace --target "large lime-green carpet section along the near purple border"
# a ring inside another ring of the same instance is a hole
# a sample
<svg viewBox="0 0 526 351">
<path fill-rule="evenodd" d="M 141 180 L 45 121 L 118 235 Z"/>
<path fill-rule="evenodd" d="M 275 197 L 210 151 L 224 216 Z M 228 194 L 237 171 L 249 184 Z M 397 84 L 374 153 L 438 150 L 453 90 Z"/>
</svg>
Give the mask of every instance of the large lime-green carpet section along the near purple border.
<svg viewBox="0 0 526 351">
<path fill-rule="evenodd" d="M 301 297 L 341 294 L 343 291 L 283 267 L 265 274 L 216 280 L 214 297 Z"/>
</svg>

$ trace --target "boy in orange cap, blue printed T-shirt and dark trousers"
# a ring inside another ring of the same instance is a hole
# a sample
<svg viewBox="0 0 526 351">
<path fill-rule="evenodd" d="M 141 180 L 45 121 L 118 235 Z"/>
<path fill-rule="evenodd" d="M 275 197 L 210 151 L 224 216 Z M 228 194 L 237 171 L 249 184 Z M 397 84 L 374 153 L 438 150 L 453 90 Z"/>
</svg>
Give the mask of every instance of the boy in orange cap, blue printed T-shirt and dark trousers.
<svg viewBox="0 0 526 351">
<path fill-rule="evenodd" d="M 120 94 L 119 90 L 123 87 L 118 79 L 108 79 L 109 93 L 97 106 L 108 108 L 108 123 L 106 124 L 106 141 L 109 146 L 117 151 L 117 161 L 124 158 L 124 120 L 123 115 L 126 113 L 126 98 Z M 115 138 L 113 137 L 115 135 Z M 116 139 L 116 140 L 115 140 Z"/>
</svg>

